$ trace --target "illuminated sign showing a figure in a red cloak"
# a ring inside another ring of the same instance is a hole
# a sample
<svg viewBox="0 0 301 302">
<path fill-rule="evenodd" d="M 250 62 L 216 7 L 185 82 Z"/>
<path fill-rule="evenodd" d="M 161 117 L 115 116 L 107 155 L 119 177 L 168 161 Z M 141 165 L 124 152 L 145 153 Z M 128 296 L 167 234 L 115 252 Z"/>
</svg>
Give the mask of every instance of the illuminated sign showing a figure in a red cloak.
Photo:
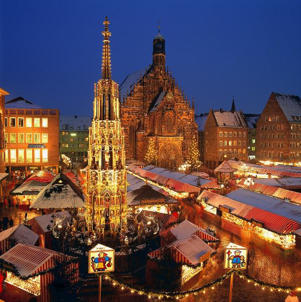
<svg viewBox="0 0 301 302">
<path fill-rule="evenodd" d="M 89 251 L 89 274 L 114 271 L 115 251 L 98 244 Z"/>
</svg>

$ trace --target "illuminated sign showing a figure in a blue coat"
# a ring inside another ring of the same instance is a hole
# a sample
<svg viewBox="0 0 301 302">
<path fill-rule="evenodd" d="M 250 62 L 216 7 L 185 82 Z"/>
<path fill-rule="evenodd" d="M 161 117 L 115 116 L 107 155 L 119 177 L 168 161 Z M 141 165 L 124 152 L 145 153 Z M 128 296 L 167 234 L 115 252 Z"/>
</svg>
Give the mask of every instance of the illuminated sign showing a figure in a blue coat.
<svg viewBox="0 0 301 302">
<path fill-rule="evenodd" d="M 234 243 L 229 243 L 224 251 L 223 267 L 228 269 L 247 268 L 248 249 Z"/>
</svg>

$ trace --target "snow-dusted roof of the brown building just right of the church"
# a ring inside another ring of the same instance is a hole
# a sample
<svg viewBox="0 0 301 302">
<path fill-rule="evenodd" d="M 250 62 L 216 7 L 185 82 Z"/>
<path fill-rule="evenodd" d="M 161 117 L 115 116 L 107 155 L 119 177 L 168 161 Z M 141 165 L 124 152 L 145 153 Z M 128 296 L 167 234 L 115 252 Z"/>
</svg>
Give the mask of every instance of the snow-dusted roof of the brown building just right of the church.
<svg viewBox="0 0 301 302">
<path fill-rule="evenodd" d="M 235 127 L 235 128 L 247 128 L 248 125 L 245 121 L 242 111 L 223 111 L 216 110 L 212 113 L 215 117 L 218 127 Z"/>
</svg>

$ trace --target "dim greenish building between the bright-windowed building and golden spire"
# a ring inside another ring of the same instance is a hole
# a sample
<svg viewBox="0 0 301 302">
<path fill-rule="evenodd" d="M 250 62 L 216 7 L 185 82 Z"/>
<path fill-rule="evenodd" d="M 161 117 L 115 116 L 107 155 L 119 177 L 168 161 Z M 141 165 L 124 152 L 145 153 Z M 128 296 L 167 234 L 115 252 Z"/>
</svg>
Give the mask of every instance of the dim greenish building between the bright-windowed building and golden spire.
<svg viewBox="0 0 301 302">
<path fill-rule="evenodd" d="M 90 116 L 59 117 L 59 155 L 72 161 L 83 161 L 88 156 Z"/>
</svg>

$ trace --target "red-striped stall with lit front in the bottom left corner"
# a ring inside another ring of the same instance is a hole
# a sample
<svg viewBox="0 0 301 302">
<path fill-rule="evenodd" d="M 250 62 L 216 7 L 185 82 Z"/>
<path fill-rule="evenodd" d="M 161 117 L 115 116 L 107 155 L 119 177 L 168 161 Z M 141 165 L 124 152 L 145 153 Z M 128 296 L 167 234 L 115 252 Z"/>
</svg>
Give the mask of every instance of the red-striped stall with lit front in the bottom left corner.
<svg viewBox="0 0 301 302">
<path fill-rule="evenodd" d="M 57 277 L 58 266 L 70 284 L 78 282 L 79 262 L 75 257 L 20 243 L 0 257 L 7 292 L 21 302 L 33 297 L 39 302 L 53 301 L 49 285 Z"/>
</svg>

